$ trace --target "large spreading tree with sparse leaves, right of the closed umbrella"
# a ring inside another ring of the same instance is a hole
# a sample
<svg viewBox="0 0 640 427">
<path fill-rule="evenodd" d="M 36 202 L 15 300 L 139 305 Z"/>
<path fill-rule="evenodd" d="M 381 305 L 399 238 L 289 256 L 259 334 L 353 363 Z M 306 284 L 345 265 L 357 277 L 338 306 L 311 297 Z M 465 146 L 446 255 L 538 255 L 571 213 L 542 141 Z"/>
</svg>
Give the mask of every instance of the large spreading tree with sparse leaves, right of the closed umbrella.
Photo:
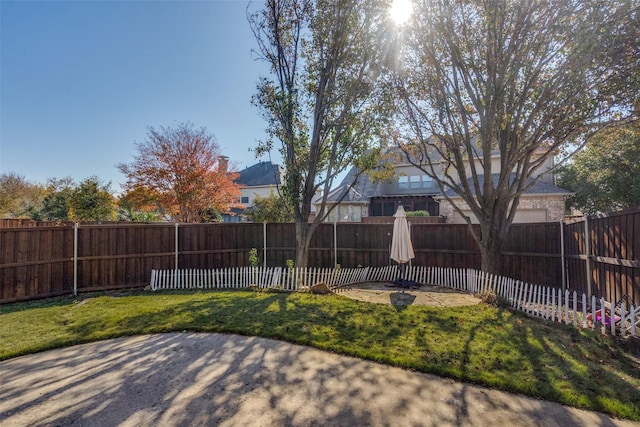
<svg viewBox="0 0 640 427">
<path fill-rule="evenodd" d="M 637 2 L 421 0 L 414 11 L 398 73 L 401 145 L 471 224 L 447 195 L 468 205 L 482 269 L 496 272 L 531 178 L 568 143 L 630 117 Z"/>
</svg>

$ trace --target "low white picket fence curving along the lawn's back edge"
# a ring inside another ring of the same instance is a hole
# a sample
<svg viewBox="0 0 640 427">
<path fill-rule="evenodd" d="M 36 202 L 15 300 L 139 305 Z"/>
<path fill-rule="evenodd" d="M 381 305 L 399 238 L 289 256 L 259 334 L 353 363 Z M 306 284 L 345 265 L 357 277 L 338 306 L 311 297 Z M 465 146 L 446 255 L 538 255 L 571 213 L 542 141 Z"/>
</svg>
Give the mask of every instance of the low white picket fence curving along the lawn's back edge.
<svg viewBox="0 0 640 427">
<path fill-rule="evenodd" d="M 330 288 L 362 282 L 391 282 L 400 277 L 397 267 L 281 268 L 239 267 L 215 270 L 152 270 L 151 289 L 240 289 L 256 286 L 288 291 L 308 289 L 316 283 Z M 508 277 L 463 268 L 408 267 L 402 279 L 446 286 L 483 295 L 494 293 L 513 309 L 531 316 L 582 328 L 600 327 L 611 335 L 640 336 L 640 306 L 614 307 L 604 299 L 576 291 L 532 285 Z"/>
</svg>

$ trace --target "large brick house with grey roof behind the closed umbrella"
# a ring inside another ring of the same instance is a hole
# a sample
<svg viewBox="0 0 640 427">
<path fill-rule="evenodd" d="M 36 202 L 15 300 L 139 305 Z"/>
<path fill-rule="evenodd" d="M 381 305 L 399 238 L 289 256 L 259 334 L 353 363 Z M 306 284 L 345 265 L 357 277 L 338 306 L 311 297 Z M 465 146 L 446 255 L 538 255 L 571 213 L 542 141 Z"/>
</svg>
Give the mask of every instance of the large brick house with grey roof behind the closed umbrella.
<svg viewBox="0 0 640 427">
<path fill-rule="evenodd" d="M 327 203 L 335 204 L 340 197 L 349 192 L 327 221 L 359 222 L 366 216 L 392 216 L 399 205 L 406 211 L 428 211 L 431 216 L 443 216 L 446 222 L 460 223 L 463 218 L 444 199 L 437 183 L 425 175 L 417 167 L 406 161 L 404 154 L 398 149 L 389 149 L 385 154 L 385 161 L 394 166 L 394 176 L 386 181 L 372 181 L 367 174 L 362 174 L 358 182 L 351 188 L 357 175 L 357 169 L 351 169 L 342 183 L 327 196 Z M 498 153 L 493 158 L 494 170 L 499 170 L 500 158 Z M 553 166 L 553 159 L 541 170 L 547 171 Z M 520 198 L 518 211 L 514 222 L 547 222 L 560 221 L 564 218 L 564 201 L 571 193 L 559 188 L 553 183 L 553 175 L 545 174 L 534 186 L 528 189 Z M 454 202 L 462 201 L 453 192 L 447 193 Z M 316 202 L 319 204 L 319 201 Z M 466 205 L 460 203 L 464 213 L 471 214 Z M 472 218 L 473 216 L 470 215 Z"/>
</svg>

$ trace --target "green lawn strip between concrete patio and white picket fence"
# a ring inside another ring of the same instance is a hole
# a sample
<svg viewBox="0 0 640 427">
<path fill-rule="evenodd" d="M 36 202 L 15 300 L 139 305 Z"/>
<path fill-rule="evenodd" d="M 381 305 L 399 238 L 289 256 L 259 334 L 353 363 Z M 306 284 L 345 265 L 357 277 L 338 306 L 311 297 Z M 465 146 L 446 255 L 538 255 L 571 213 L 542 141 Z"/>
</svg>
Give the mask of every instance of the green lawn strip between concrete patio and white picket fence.
<svg viewBox="0 0 640 427">
<path fill-rule="evenodd" d="M 640 345 L 490 305 L 397 308 L 252 291 L 93 295 L 0 307 L 0 360 L 123 335 L 276 338 L 640 420 Z"/>
</svg>

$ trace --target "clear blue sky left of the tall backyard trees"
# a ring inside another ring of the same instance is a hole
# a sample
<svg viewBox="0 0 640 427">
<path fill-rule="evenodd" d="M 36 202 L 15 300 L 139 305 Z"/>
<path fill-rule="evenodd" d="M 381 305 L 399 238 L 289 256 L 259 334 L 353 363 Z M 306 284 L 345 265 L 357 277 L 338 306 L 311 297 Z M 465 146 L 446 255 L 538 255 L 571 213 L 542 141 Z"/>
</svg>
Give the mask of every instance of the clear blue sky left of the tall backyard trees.
<svg viewBox="0 0 640 427">
<path fill-rule="evenodd" d="M 0 0 L 0 174 L 97 175 L 118 192 L 116 164 L 147 127 L 184 121 L 213 133 L 239 169 L 255 163 L 266 123 L 250 100 L 268 69 L 251 54 L 246 7 Z"/>
</svg>

